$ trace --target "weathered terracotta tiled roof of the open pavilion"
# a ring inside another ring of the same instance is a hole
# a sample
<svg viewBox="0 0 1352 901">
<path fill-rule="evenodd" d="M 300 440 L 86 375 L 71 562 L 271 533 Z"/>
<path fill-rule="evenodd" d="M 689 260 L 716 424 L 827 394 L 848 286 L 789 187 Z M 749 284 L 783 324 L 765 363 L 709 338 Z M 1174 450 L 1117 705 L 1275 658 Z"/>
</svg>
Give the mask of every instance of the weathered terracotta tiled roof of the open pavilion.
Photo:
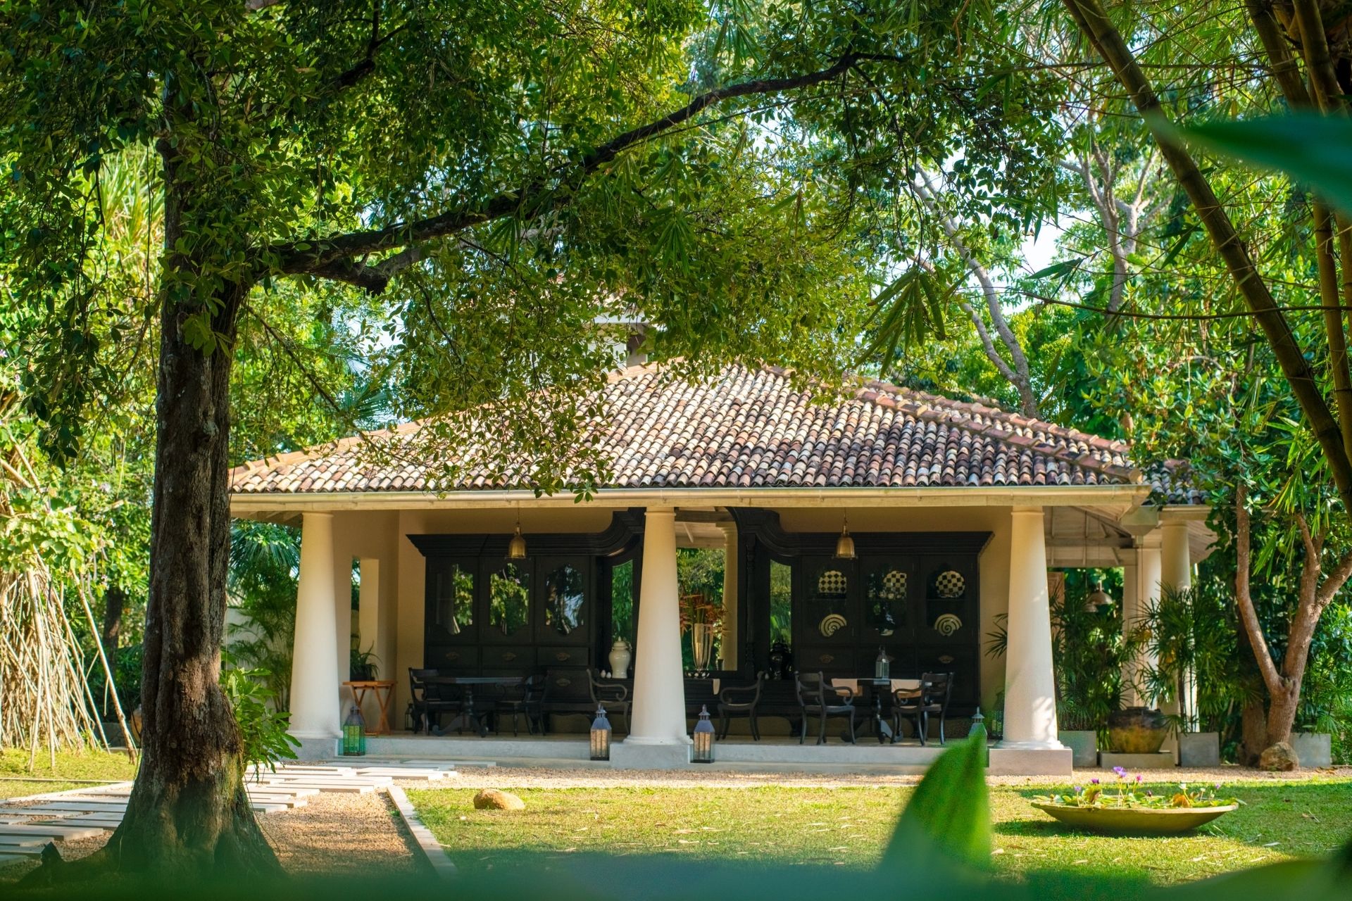
<svg viewBox="0 0 1352 901">
<path fill-rule="evenodd" d="M 960 403 L 883 382 L 819 404 L 783 370 L 730 366 L 691 384 L 635 366 L 606 390 L 600 447 L 612 478 L 603 488 L 834 488 L 1130 485 L 1130 447 L 980 403 Z M 410 424 L 372 432 L 406 442 Z M 372 463 L 362 440 L 247 463 L 231 473 L 237 494 L 429 490 L 422 466 Z M 1178 485 L 1171 465 L 1149 481 Z M 527 488 L 466 471 L 441 490 Z M 1172 503 L 1199 500 L 1195 492 Z"/>
</svg>

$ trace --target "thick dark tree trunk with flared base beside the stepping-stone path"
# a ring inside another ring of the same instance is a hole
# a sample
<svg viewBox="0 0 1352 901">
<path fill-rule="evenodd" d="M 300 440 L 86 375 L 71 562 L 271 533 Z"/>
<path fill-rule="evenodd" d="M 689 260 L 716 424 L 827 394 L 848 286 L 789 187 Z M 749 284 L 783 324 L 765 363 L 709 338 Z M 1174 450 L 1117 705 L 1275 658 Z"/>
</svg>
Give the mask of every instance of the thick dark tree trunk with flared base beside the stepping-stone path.
<svg viewBox="0 0 1352 901">
<path fill-rule="evenodd" d="M 168 161 L 166 184 L 174 184 Z M 223 346 L 208 354 L 188 344 L 183 326 L 200 301 L 178 301 L 170 288 L 176 274 L 196 270 L 173 253 L 181 209 L 170 188 L 141 692 L 143 756 L 126 816 L 91 866 L 157 878 L 277 874 L 276 855 L 245 794 L 243 744 L 219 682 L 230 557 L 228 343 L 247 286 L 227 284 L 212 299 L 211 324 Z"/>
</svg>

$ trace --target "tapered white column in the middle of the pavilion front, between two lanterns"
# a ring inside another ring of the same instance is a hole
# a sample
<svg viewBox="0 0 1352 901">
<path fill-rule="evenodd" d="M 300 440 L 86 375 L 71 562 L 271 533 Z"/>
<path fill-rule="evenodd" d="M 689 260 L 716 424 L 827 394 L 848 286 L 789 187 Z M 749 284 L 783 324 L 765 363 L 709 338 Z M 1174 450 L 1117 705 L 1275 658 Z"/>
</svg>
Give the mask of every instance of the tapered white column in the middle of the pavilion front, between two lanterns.
<svg viewBox="0 0 1352 901">
<path fill-rule="evenodd" d="M 626 744 L 683 744 L 685 682 L 680 662 L 680 589 L 676 582 L 676 512 L 649 508 L 644 517 L 644 571 L 634 646 L 634 716 Z"/>
</svg>

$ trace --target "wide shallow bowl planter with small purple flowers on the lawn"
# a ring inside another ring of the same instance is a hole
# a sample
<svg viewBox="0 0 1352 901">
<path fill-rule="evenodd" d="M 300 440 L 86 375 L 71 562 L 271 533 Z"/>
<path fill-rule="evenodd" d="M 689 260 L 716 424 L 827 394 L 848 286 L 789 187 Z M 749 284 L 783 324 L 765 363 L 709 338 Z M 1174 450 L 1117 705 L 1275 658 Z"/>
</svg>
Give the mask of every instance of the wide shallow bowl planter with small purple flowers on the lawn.
<svg viewBox="0 0 1352 901">
<path fill-rule="evenodd" d="M 1145 786 L 1140 774 L 1128 778 L 1126 770 L 1113 767 L 1114 783 L 1090 779 L 1068 790 L 1038 796 L 1033 806 L 1076 828 L 1106 833 L 1172 835 L 1195 829 L 1218 816 L 1234 810 L 1237 798 L 1221 797 L 1214 786 L 1186 782 L 1156 793 Z"/>
</svg>

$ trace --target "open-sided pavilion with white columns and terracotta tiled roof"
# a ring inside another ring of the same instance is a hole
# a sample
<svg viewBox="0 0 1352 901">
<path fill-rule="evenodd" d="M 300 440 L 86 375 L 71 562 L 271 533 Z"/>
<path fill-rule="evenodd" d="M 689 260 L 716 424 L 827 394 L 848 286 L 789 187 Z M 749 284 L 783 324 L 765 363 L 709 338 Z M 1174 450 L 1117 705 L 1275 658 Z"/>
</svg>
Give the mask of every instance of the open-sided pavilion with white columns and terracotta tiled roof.
<svg viewBox="0 0 1352 901">
<path fill-rule="evenodd" d="M 235 516 L 303 530 L 291 711 L 307 750 L 333 754 L 353 631 L 395 682 L 396 728 L 410 669 L 539 674 L 557 709 L 580 712 L 623 607 L 637 627 L 617 766 L 688 762 L 699 679 L 773 675 L 786 651 L 800 671 L 857 678 L 882 651 L 894 675 L 953 673 L 955 716 L 1003 696 L 992 771 L 1069 773 L 1049 570 L 1122 567 L 1125 613 L 1140 616 L 1161 585 L 1190 584 L 1214 540 L 1178 466 L 1146 474 L 1122 442 L 986 404 L 880 382 L 818 404 L 773 369 L 691 384 L 650 366 L 615 374 L 604 400 L 611 478 L 585 503 L 487 473 L 430 490 L 416 465 L 372 463 L 357 439 L 234 470 Z M 526 552 L 507 559 L 518 527 Z M 838 554 L 845 530 L 853 555 Z M 719 659 L 698 675 L 681 658 L 679 547 L 725 550 Z"/>
</svg>

